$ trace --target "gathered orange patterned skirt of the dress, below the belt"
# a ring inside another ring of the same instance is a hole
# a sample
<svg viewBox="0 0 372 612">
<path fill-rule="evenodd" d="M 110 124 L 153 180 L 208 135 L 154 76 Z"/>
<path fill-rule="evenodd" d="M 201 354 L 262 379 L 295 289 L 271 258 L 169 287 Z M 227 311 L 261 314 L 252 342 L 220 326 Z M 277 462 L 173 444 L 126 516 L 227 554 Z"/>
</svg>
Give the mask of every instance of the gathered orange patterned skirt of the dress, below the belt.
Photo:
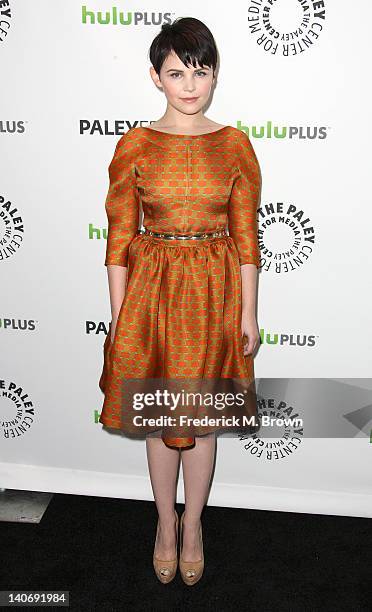
<svg viewBox="0 0 372 612">
<path fill-rule="evenodd" d="M 136 425 L 138 412 L 129 391 L 140 388 L 133 386 L 138 381 L 145 385 L 150 380 L 152 389 L 156 381 L 178 379 L 189 388 L 200 388 L 201 381 L 238 383 L 240 390 L 242 385 L 248 390 L 240 417 L 257 418 L 253 357 L 243 351 L 239 257 L 230 236 L 172 241 L 135 236 L 113 342 L 110 335 L 99 380 L 104 393 L 99 421 L 106 428 L 135 437 L 161 435 L 173 448 L 193 446 L 195 436 L 234 429 L 205 423 L 180 427 L 169 421 L 162 427 L 158 422 Z M 211 411 L 203 405 L 186 409 L 191 417 Z M 149 407 L 145 412 L 164 413 Z"/>
</svg>

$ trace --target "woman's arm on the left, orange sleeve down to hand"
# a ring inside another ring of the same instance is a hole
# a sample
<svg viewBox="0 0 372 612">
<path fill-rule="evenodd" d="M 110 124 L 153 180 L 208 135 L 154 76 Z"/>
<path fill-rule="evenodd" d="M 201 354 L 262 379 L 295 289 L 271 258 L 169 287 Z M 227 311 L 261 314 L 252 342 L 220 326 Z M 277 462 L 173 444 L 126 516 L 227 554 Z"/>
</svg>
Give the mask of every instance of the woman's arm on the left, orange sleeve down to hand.
<svg viewBox="0 0 372 612">
<path fill-rule="evenodd" d="M 110 185 L 105 209 L 108 235 L 105 266 L 107 266 L 111 303 L 111 340 L 125 296 L 129 245 L 139 225 L 139 194 L 134 172 L 135 144 L 124 134 L 116 145 L 109 166 Z"/>
</svg>

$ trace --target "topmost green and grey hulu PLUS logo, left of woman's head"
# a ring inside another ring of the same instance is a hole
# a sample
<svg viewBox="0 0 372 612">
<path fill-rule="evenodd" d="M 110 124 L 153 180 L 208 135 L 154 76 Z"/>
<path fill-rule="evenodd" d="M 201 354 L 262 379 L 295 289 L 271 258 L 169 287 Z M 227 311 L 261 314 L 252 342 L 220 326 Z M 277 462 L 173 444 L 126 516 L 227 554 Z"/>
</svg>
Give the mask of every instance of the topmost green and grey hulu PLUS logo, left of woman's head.
<svg viewBox="0 0 372 612">
<path fill-rule="evenodd" d="M 120 11 L 112 6 L 109 11 L 91 11 L 87 6 L 81 7 L 81 21 L 85 25 L 154 25 L 171 23 L 172 13 L 142 13 L 141 11 Z"/>
</svg>

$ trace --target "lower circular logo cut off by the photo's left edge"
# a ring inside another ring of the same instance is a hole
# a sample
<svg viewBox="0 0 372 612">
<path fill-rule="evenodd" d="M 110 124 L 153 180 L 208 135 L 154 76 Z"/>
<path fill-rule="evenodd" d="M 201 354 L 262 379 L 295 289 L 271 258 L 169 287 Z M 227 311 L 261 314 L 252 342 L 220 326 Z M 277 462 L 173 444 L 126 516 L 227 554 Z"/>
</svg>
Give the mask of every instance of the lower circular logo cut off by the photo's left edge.
<svg viewBox="0 0 372 612">
<path fill-rule="evenodd" d="M 25 389 L 14 380 L 0 380 L 0 431 L 2 437 L 19 438 L 35 421 L 35 408 Z"/>
</svg>

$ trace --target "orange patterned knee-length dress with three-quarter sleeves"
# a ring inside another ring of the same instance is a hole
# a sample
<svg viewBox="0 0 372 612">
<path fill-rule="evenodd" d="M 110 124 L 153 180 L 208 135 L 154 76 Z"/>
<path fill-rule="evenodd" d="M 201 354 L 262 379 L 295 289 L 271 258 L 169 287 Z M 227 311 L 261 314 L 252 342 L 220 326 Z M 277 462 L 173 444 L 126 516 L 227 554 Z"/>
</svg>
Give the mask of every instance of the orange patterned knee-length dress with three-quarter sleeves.
<svg viewBox="0 0 372 612">
<path fill-rule="evenodd" d="M 125 379 L 254 381 L 253 358 L 243 353 L 240 266 L 260 266 L 261 174 L 248 136 L 235 127 L 202 135 L 136 127 L 118 141 L 109 178 L 105 265 L 128 270 L 115 337 L 111 342 L 109 331 L 104 343 L 99 420 L 136 434 L 123 399 Z M 227 228 L 228 235 L 169 240 L 142 234 L 141 207 L 143 226 L 153 232 Z M 160 433 L 169 447 L 195 442 L 172 427 Z"/>
</svg>

